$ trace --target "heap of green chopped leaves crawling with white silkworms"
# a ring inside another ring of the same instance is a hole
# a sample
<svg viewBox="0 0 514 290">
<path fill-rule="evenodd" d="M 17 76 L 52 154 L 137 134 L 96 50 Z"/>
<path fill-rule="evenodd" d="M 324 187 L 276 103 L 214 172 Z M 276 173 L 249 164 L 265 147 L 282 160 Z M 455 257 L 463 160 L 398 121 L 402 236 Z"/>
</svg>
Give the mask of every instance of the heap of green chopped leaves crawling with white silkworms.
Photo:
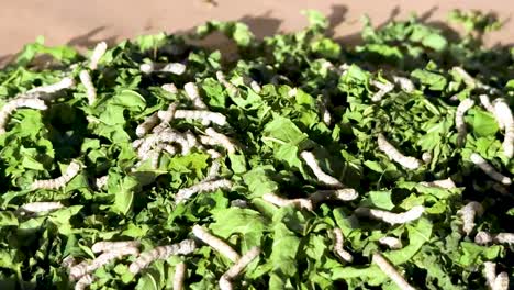
<svg viewBox="0 0 514 290">
<path fill-rule="evenodd" d="M 365 20 L 349 47 L 306 15 L 264 40 L 211 21 L 87 56 L 26 45 L 0 70 L 0 288 L 507 289 L 498 23 Z"/>
</svg>

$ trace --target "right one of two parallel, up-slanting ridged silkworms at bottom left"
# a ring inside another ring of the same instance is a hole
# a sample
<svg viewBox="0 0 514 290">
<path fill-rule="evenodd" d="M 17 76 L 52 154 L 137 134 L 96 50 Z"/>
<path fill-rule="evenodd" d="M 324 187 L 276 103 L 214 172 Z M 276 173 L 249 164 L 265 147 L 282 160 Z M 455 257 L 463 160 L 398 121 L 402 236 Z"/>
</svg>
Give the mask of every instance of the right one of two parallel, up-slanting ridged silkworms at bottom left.
<svg viewBox="0 0 514 290">
<path fill-rule="evenodd" d="M 197 249 L 197 244 L 192 239 L 183 239 L 178 244 L 155 247 L 150 250 L 143 252 L 137 259 L 128 266 L 128 271 L 136 275 L 155 260 L 167 259 L 172 255 L 188 255 L 194 249 Z"/>
</svg>

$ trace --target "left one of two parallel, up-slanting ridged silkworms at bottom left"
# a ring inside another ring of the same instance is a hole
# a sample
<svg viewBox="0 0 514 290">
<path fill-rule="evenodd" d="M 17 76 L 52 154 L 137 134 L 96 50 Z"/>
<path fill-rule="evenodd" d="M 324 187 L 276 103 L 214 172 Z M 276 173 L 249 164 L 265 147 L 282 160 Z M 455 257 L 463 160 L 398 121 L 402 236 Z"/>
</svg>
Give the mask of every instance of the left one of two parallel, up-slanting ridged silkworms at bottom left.
<svg viewBox="0 0 514 290">
<path fill-rule="evenodd" d="M 134 247 L 116 248 L 110 252 L 105 252 L 91 261 L 82 261 L 71 267 L 69 270 L 69 279 L 71 281 L 75 281 L 79 279 L 80 277 L 83 277 L 85 275 L 93 272 L 94 270 L 109 264 L 113 259 L 118 259 L 123 256 L 138 255 L 138 254 L 139 254 L 139 250 Z"/>
</svg>

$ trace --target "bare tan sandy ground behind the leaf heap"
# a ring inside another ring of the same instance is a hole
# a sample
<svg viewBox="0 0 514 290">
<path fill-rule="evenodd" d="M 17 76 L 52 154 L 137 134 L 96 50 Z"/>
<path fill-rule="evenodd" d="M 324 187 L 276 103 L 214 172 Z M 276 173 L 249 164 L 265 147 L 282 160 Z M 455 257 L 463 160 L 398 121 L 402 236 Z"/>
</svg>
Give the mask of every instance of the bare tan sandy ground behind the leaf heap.
<svg viewBox="0 0 514 290">
<path fill-rule="evenodd" d="M 19 52 L 23 44 L 44 35 L 46 43 L 91 47 L 139 34 L 185 32 L 208 20 L 239 20 L 257 36 L 294 31 L 306 24 L 302 9 L 317 9 L 329 16 L 331 32 L 344 43 L 358 41 L 360 16 L 367 13 L 375 25 L 391 19 L 405 19 L 411 12 L 427 22 L 442 23 L 451 9 L 480 9 L 505 20 L 501 32 L 487 36 L 489 45 L 512 43 L 514 2 L 468 1 L 325 1 L 325 0 L 2 0 L 0 8 L 0 63 Z M 507 4 L 511 2 L 511 4 Z"/>
</svg>

